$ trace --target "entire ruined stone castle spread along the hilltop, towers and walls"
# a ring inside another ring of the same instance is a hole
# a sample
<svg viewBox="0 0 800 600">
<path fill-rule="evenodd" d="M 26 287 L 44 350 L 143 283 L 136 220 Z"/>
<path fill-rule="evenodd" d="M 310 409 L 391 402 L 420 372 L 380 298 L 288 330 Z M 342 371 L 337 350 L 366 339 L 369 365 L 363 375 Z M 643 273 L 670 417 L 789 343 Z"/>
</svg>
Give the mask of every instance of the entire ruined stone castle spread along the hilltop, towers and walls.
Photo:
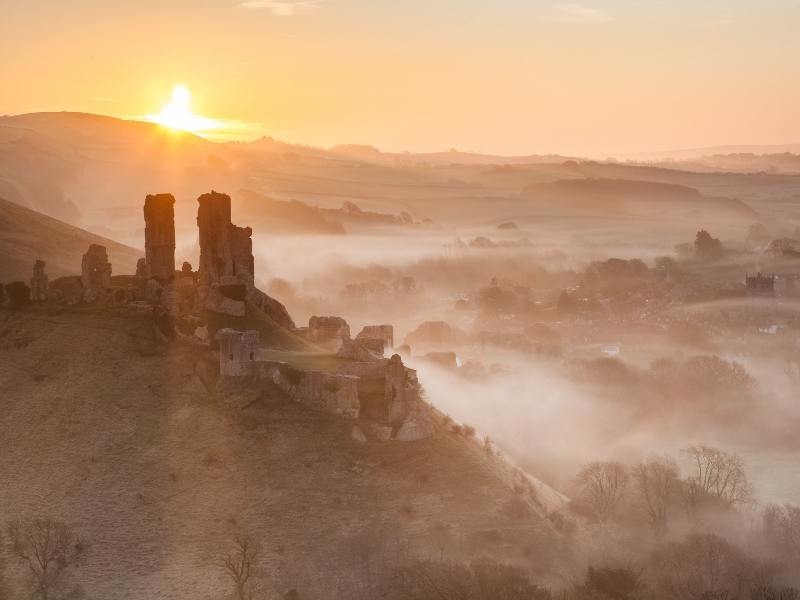
<svg viewBox="0 0 800 600">
<path fill-rule="evenodd" d="M 252 230 L 231 223 L 231 199 L 226 194 L 212 191 L 198 198 L 200 266 L 194 272 L 184 263 L 176 272 L 174 204 L 171 194 L 145 198 L 145 257 L 138 261 L 134 277 L 119 278 L 112 285 L 106 248 L 91 244 L 83 255 L 81 276 L 63 277 L 51 286 L 57 299 L 74 304 L 102 298 L 149 315 L 153 334 L 162 343 L 209 351 L 216 346 L 217 392 L 226 402 L 235 404 L 242 394 L 282 394 L 353 421 L 351 437 L 360 443 L 432 435 L 433 419 L 422 400 L 416 371 L 397 354 L 384 358 L 394 342 L 391 325 L 368 325 L 356 339 L 341 317 L 314 316 L 308 327 L 296 328 L 286 308 L 256 288 Z M 34 299 L 48 297 L 44 266 L 42 261 L 34 266 Z M 237 322 L 243 330 L 231 327 Z M 305 340 L 308 347 L 303 352 L 273 349 L 285 360 L 267 360 L 262 357 L 260 333 L 251 323 L 265 324 L 261 333 L 275 332 L 284 342 Z"/>
</svg>

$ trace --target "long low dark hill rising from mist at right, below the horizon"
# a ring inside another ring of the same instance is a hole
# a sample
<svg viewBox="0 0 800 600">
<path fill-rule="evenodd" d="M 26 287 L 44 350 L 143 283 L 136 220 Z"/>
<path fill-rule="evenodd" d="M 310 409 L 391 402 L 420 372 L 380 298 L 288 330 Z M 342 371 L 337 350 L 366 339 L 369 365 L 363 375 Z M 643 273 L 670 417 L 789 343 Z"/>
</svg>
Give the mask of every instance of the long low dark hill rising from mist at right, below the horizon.
<svg viewBox="0 0 800 600">
<path fill-rule="evenodd" d="M 554 213 L 619 214 L 668 219 L 745 221 L 758 213 L 744 202 L 704 196 L 671 183 L 626 179 L 563 179 L 527 186 L 522 195 Z"/>
</svg>

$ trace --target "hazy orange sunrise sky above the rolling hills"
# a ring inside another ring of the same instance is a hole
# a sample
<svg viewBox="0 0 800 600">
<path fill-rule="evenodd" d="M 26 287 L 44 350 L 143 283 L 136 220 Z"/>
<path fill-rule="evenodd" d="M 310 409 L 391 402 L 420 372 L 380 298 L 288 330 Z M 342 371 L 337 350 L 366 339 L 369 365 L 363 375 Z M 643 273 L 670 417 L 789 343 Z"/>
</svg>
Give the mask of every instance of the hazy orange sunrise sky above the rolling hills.
<svg viewBox="0 0 800 600">
<path fill-rule="evenodd" d="M 0 0 L 0 113 L 204 116 L 329 146 L 800 142 L 800 0 Z"/>
</svg>

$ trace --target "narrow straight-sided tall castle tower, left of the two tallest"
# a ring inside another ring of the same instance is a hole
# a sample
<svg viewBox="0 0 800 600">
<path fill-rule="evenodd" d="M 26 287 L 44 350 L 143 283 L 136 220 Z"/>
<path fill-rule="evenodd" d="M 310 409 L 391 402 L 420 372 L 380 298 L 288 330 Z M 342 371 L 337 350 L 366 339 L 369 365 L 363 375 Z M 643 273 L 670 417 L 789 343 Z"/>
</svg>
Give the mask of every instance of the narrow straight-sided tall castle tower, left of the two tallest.
<svg viewBox="0 0 800 600">
<path fill-rule="evenodd" d="M 145 274 L 160 283 L 175 277 L 174 206 L 172 194 L 148 195 L 144 200 Z"/>
</svg>

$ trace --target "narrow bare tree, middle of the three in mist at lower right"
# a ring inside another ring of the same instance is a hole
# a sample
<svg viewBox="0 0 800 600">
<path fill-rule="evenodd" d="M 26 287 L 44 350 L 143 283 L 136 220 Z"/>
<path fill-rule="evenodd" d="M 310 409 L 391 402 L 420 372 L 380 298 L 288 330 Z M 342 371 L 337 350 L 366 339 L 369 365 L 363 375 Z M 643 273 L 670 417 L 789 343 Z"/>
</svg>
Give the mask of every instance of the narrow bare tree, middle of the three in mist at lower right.
<svg viewBox="0 0 800 600">
<path fill-rule="evenodd" d="M 678 490 L 678 475 L 678 465 L 666 456 L 651 458 L 633 470 L 636 493 L 658 538 L 667 530 L 669 505 Z"/>
</svg>

